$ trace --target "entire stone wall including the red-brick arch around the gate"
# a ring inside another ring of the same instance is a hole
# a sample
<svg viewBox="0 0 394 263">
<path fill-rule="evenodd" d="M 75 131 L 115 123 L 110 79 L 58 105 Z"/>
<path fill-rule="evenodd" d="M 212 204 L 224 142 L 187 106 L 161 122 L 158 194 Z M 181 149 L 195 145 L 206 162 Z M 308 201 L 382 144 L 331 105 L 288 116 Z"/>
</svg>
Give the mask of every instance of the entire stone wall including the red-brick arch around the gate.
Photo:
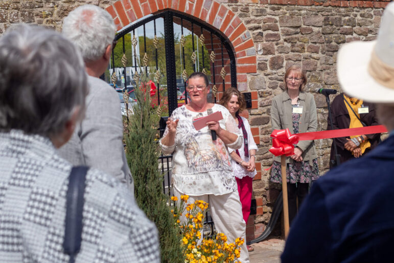
<svg viewBox="0 0 394 263">
<path fill-rule="evenodd" d="M 142 10 L 135 4 L 136 1 L 140 1 Z M 253 52 L 242 52 L 246 56 L 256 56 L 256 60 L 253 58 L 257 61 L 256 70 L 253 67 L 252 71 L 238 74 L 238 80 L 243 82 L 239 89 L 252 92 L 253 109 L 249 110 L 248 115 L 253 136 L 258 142 L 260 135 L 257 166 L 261 171 L 253 181 L 257 215 L 249 220 L 248 239 L 263 232 L 279 194 L 280 185 L 269 182 L 270 171 L 265 169 L 272 164 L 272 155 L 268 152 L 271 146 L 270 105 L 272 98 L 283 92 L 285 69 L 296 63 L 307 71 L 306 91 L 315 96 L 318 130 L 325 130 L 325 97 L 314 91 L 317 88 L 340 91 L 335 64 L 339 47 L 353 40 L 375 39 L 383 8 L 387 5 L 387 1 L 335 0 L 3 0 L 0 2 L 0 34 L 11 24 L 19 22 L 60 30 L 63 17 L 86 3 L 108 8 L 118 28 L 146 15 L 149 10 L 157 12 L 172 8 L 195 15 L 203 21 L 209 19 L 203 19 L 202 15 L 208 15 L 212 21 L 215 17 L 220 18 L 221 27 L 215 26 L 217 19 L 211 25 L 229 38 L 234 38 L 231 40 L 234 46 L 237 41 L 238 47 L 243 45 L 242 41 L 250 42 L 251 36 L 251 47 L 254 45 L 255 51 L 248 46 L 248 51 Z M 185 7 L 188 7 L 187 10 Z M 121 12 L 123 9 L 125 12 Z M 233 31 L 239 33 L 236 35 Z M 240 37 L 237 38 L 238 34 Z M 243 39 L 242 34 L 247 37 Z M 237 64 L 241 64 L 239 57 Z M 243 67 L 250 68 L 250 65 Z M 320 174 L 324 174 L 329 167 L 331 141 L 318 140 L 315 143 L 320 156 Z"/>
</svg>

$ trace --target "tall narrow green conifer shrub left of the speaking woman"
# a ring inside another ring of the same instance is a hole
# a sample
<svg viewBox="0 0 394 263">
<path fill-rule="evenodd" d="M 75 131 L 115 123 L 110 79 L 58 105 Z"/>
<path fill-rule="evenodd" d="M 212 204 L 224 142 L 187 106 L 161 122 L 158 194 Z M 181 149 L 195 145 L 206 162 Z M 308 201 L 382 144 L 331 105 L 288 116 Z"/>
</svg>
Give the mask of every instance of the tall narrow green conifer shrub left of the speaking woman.
<svg viewBox="0 0 394 263">
<path fill-rule="evenodd" d="M 146 84 L 141 86 L 141 89 L 135 89 L 137 103 L 133 106 L 125 133 L 126 157 L 134 178 L 135 200 L 156 224 L 161 262 L 184 262 L 179 229 L 175 227 L 174 216 L 167 204 L 168 196 L 163 192 L 163 175 L 158 170 L 158 117 L 151 106 L 149 87 Z"/>
</svg>

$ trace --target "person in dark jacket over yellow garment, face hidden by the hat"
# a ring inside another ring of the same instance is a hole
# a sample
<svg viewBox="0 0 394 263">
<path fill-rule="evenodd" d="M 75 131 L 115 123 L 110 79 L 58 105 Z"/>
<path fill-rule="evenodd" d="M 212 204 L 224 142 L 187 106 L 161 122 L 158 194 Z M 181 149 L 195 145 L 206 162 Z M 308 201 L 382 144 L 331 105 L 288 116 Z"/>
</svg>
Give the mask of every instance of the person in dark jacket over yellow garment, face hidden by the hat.
<svg viewBox="0 0 394 263">
<path fill-rule="evenodd" d="M 346 94 L 335 97 L 331 104 L 331 127 L 330 115 L 327 129 L 357 128 L 363 126 L 379 125 L 375 114 L 375 105 L 358 98 L 352 98 Z M 336 166 L 334 143 L 337 146 L 340 162 L 346 162 L 353 158 L 359 158 L 378 145 L 380 134 L 357 135 L 341 137 L 333 140 L 331 145 L 330 168 Z"/>
</svg>

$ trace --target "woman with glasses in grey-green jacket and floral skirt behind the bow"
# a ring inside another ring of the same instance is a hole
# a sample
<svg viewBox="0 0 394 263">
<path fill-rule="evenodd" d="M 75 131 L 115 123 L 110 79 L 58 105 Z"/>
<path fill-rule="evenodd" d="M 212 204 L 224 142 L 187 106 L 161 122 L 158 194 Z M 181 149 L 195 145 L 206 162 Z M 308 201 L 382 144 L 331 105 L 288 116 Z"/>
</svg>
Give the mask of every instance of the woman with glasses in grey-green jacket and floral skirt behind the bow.
<svg viewBox="0 0 394 263">
<path fill-rule="evenodd" d="M 298 65 L 289 67 L 285 74 L 286 91 L 272 100 L 272 130 L 288 128 L 292 134 L 316 131 L 316 104 L 312 94 L 305 93 L 307 76 Z M 319 177 L 317 154 L 313 140 L 300 141 L 294 154 L 286 158 L 287 192 L 290 224 L 298 207 L 308 194 L 309 183 Z M 274 157 L 271 181 L 281 183 L 281 158 Z"/>
</svg>

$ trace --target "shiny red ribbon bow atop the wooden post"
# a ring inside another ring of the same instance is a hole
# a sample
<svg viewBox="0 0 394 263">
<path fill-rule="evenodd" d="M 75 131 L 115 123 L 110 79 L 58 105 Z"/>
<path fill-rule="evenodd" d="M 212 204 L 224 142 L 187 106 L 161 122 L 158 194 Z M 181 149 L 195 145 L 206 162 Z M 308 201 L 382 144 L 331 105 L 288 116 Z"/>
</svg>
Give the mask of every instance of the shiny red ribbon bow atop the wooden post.
<svg viewBox="0 0 394 263">
<path fill-rule="evenodd" d="M 272 147 L 269 151 L 274 156 L 291 156 L 294 154 L 294 144 L 298 143 L 298 136 L 292 135 L 289 129 L 274 129 L 271 134 Z"/>
</svg>

